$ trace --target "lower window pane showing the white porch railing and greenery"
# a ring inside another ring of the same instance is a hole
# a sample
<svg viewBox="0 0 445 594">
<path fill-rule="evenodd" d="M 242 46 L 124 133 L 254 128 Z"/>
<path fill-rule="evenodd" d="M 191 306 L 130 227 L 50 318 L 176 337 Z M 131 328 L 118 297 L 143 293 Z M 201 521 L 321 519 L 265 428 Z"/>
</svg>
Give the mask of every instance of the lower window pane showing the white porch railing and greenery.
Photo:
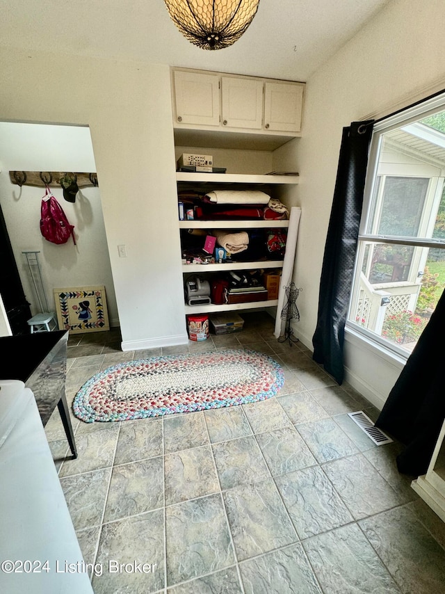
<svg viewBox="0 0 445 594">
<path fill-rule="evenodd" d="M 350 321 L 410 353 L 444 290 L 445 249 L 362 242 L 359 253 Z"/>
</svg>

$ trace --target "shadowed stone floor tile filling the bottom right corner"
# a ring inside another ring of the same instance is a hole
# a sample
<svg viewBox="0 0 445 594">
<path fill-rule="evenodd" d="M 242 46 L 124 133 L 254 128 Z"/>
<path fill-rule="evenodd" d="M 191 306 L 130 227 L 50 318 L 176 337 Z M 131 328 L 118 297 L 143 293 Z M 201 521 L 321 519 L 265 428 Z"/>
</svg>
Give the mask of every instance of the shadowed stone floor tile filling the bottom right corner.
<svg viewBox="0 0 445 594">
<path fill-rule="evenodd" d="M 403 592 L 443 592 L 445 551 L 407 507 L 359 522 Z"/>
</svg>

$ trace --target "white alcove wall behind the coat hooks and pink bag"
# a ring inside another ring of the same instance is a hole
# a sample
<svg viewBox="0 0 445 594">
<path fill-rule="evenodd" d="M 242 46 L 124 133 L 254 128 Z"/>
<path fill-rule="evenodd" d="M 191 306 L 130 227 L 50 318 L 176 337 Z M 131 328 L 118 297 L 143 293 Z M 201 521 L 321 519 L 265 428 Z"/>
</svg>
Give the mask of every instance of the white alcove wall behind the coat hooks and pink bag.
<svg viewBox="0 0 445 594">
<path fill-rule="evenodd" d="M 44 188 L 10 182 L 10 170 L 95 172 L 88 127 L 0 122 L 0 204 L 5 217 L 15 261 L 31 313 L 40 312 L 38 296 L 31 282 L 22 252 L 38 254 L 44 291 L 54 311 L 53 289 L 104 285 L 111 326 L 118 326 L 110 258 L 106 244 L 99 188 L 81 188 L 73 204 L 63 198 L 61 186 L 51 191 L 74 225 L 72 239 L 56 246 L 40 233 L 40 203 Z"/>
</svg>

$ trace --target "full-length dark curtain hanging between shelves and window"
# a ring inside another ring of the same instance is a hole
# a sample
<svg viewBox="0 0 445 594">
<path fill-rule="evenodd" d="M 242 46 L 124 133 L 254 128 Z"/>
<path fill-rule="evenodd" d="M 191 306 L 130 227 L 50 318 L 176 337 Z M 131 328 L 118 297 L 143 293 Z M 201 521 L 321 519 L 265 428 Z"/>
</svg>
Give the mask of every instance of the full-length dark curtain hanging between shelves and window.
<svg viewBox="0 0 445 594">
<path fill-rule="evenodd" d="M 320 281 L 314 360 L 343 382 L 343 342 L 373 120 L 343 128 Z"/>
</svg>

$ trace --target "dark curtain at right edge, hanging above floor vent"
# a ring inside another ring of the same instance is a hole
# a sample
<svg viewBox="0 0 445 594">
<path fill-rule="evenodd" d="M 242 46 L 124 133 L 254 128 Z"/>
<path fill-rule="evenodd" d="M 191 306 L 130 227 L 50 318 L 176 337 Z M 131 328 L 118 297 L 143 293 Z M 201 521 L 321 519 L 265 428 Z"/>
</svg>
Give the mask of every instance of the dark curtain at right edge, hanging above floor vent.
<svg viewBox="0 0 445 594">
<path fill-rule="evenodd" d="M 400 472 L 425 474 L 445 419 L 445 292 L 389 396 L 376 426 L 405 444 Z"/>
</svg>

